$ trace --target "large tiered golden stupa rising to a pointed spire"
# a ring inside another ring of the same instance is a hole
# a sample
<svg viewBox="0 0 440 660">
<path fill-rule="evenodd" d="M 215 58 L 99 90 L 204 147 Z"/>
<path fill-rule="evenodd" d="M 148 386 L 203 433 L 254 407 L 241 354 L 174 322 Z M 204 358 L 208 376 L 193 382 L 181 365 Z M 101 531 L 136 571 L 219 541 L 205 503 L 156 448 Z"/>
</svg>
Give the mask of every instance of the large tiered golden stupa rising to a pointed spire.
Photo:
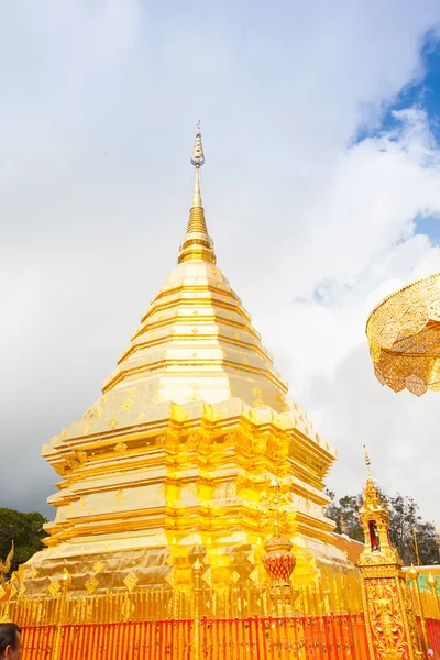
<svg viewBox="0 0 440 660">
<path fill-rule="evenodd" d="M 270 484 L 288 506 L 279 531 L 296 575 L 352 566 L 333 542 L 323 479 L 334 449 L 287 397 L 287 385 L 216 265 L 200 195 L 178 263 L 141 319 L 102 397 L 43 447 L 61 481 L 48 502 L 47 549 L 21 566 L 26 596 L 165 586 L 184 588 L 193 565 L 213 586 L 264 581 L 273 531 Z M 199 565 L 197 563 L 197 565 Z"/>
</svg>

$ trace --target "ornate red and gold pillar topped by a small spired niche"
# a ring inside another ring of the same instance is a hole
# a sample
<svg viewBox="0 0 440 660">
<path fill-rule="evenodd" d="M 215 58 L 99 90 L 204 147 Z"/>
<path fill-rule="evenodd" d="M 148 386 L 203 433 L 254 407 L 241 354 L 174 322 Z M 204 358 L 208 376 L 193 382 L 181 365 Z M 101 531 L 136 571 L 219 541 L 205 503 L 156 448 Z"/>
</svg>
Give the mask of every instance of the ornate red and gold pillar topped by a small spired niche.
<svg viewBox="0 0 440 660">
<path fill-rule="evenodd" d="M 370 656 L 372 660 L 417 660 L 425 653 L 403 562 L 389 540 L 389 512 L 372 480 L 366 452 L 365 462 L 367 480 L 360 508 L 365 548 L 358 568 Z"/>
</svg>

